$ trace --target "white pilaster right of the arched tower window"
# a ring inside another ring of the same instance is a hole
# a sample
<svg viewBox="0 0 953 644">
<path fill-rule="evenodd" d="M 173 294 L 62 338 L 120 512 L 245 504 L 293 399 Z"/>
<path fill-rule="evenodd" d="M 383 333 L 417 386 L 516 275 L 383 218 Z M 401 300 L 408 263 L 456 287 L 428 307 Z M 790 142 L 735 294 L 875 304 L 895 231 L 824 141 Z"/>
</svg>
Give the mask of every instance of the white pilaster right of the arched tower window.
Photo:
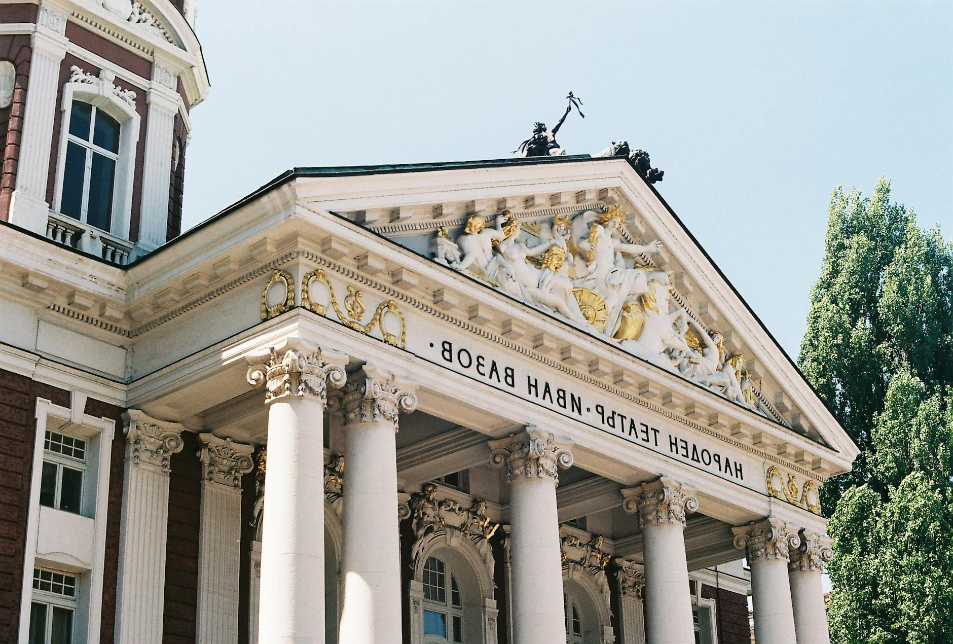
<svg viewBox="0 0 953 644">
<path fill-rule="evenodd" d="M 150 252 L 166 242 L 169 220 L 169 189 L 172 182 L 172 137 L 178 95 L 174 71 L 152 66 L 152 89 L 147 93 L 149 117 L 142 168 L 142 209 L 138 245 Z"/>
</svg>

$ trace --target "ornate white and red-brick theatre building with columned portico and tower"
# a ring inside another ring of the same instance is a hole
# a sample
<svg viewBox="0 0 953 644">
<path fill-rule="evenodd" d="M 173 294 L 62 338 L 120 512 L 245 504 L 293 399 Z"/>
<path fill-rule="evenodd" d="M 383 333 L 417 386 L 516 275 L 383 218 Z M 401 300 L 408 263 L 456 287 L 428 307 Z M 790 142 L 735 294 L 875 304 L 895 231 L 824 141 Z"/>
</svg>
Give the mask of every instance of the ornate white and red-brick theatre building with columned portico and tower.
<svg viewBox="0 0 953 644">
<path fill-rule="evenodd" d="M 0 640 L 733 644 L 750 594 L 828 641 L 857 448 L 647 155 L 295 169 L 180 234 L 194 19 L 0 0 Z"/>
</svg>

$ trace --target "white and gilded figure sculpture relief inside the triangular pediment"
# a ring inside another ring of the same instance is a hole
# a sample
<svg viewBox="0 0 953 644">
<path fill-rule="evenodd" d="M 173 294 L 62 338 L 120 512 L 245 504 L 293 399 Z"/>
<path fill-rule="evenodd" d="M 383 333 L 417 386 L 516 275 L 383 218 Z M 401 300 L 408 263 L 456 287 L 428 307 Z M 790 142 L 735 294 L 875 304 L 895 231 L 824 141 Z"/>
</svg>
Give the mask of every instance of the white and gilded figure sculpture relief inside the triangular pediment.
<svg viewBox="0 0 953 644">
<path fill-rule="evenodd" d="M 613 206 L 523 224 L 503 211 L 491 226 L 475 214 L 454 239 L 440 228 L 431 251 L 445 266 L 760 412 L 743 356 L 728 355 L 721 333 L 680 304 L 672 272 L 652 266 L 660 241 L 623 237 L 627 217 Z"/>
</svg>

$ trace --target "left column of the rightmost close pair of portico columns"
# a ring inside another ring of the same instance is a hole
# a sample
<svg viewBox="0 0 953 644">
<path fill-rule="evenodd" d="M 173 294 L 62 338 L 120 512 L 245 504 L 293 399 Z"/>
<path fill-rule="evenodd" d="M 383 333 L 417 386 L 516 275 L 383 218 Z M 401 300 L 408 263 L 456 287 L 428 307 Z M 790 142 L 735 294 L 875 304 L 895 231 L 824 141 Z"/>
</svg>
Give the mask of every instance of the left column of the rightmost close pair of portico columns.
<svg viewBox="0 0 953 644">
<path fill-rule="evenodd" d="M 745 550 L 751 566 L 755 637 L 772 644 L 796 644 L 787 564 L 788 551 L 798 548 L 801 538 L 774 517 L 731 532 L 735 533 L 735 547 Z"/>
</svg>

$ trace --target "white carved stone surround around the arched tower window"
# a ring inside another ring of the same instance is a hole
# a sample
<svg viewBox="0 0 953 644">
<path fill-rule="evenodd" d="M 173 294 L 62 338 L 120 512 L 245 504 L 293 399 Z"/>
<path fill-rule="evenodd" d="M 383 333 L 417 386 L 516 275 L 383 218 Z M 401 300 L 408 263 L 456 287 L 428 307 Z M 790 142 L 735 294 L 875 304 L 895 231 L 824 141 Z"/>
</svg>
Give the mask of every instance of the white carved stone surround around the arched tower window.
<svg viewBox="0 0 953 644">
<path fill-rule="evenodd" d="M 85 81 L 80 82 L 71 77 L 63 85 L 63 100 L 60 103 L 60 143 L 56 159 L 53 203 L 50 207 L 52 211 L 59 212 L 60 201 L 63 198 L 63 172 L 66 166 L 72 101 L 75 99 L 89 103 L 119 121 L 119 158 L 116 161 L 115 180 L 112 186 L 112 218 L 110 230 L 107 232 L 128 240 L 132 222 L 132 192 L 135 181 L 135 149 L 139 141 L 139 113 L 135 111 L 135 99 L 130 104 L 116 92 L 118 88 L 113 83 L 115 74 L 111 70 L 103 68 L 98 78 L 91 74 L 85 74 L 85 78 Z"/>
</svg>

